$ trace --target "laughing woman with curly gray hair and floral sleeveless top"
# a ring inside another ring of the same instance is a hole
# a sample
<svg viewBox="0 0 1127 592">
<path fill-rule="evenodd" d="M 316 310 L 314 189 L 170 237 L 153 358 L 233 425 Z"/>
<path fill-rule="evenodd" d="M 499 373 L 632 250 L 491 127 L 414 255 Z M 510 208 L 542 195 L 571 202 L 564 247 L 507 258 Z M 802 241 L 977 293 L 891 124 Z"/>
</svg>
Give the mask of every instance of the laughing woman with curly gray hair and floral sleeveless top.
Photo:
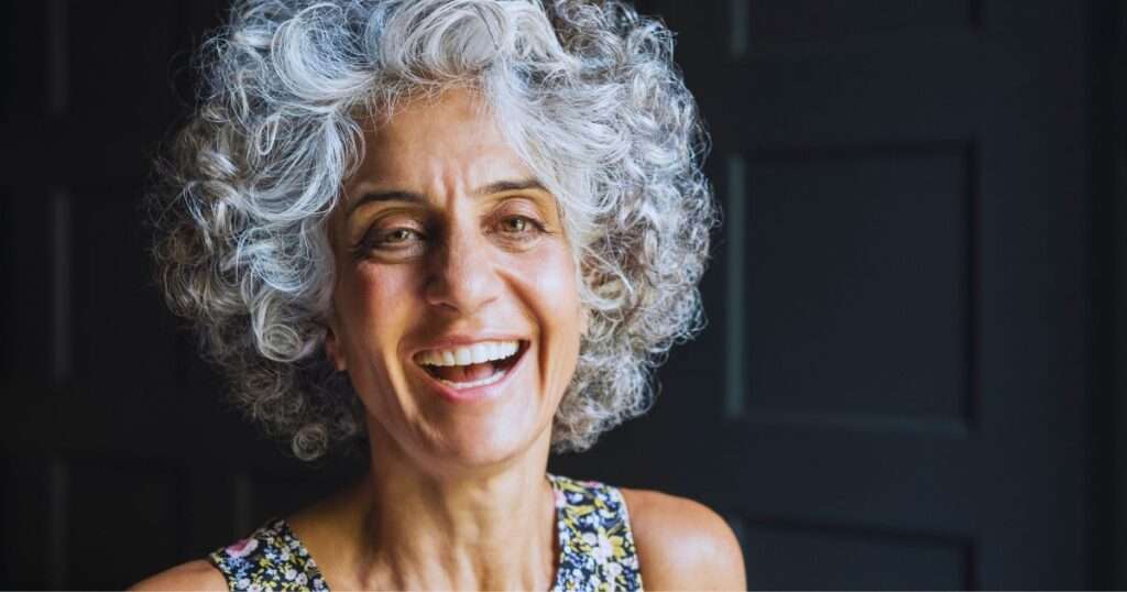
<svg viewBox="0 0 1127 592">
<path fill-rule="evenodd" d="M 743 589 L 711 510 L 547 474 L 699 325 L 671 33 L 619 1 L 249 1 L 206 47 L 166 294 L 248 415 L 370 471 L 135 589 Z"/>
</svg>

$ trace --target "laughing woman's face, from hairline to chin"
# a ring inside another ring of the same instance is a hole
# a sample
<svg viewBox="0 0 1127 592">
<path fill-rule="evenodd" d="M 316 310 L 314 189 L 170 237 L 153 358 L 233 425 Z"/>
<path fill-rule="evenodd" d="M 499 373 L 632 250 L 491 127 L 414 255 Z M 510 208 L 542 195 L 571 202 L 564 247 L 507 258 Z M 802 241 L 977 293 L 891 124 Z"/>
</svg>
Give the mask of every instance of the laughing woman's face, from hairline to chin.
<svg viewBox="0 0 1127 592">
<path fill-rule="evenodd" d="M 366 132 L 331 221 L 326 348 L 374 445 L 423 467 L 547 443 L 585 330 L 556 198 L 477 100 L 447 91 Z"/>
</svg>

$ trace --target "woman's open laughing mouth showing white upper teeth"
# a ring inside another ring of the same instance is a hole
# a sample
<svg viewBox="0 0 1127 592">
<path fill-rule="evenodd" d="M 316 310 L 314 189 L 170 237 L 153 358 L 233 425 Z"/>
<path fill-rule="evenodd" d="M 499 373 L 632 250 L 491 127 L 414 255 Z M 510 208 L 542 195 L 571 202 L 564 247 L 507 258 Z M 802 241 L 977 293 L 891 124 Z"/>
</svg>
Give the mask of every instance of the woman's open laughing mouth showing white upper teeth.
<svg viewBox="0 0 1127 592">
<path fill-rule="evenodd" d="M 492 385 L 505 378 L 527 350 L 525 341 L 482 342 L 470 346 L 428 350 L 415 363 L 435 380 L 454 389 Z"/>
</svg>

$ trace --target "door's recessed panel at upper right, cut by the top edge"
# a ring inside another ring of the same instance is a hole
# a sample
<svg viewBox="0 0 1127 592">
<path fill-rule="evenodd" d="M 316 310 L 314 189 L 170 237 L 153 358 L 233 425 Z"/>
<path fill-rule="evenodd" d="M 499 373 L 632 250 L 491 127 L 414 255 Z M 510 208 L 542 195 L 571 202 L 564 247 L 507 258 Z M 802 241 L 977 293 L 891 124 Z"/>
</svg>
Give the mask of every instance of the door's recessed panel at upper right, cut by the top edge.
<svg viewBox="0 0 1127 592">
<path fill-rule="evenodd" d="M 974 0 L 826 2 L 825 0 L 731 0 L 745 2 L 752 46 L 780 41 L 866 35 L 913 27 L 968 26 Z"/>
</svg>

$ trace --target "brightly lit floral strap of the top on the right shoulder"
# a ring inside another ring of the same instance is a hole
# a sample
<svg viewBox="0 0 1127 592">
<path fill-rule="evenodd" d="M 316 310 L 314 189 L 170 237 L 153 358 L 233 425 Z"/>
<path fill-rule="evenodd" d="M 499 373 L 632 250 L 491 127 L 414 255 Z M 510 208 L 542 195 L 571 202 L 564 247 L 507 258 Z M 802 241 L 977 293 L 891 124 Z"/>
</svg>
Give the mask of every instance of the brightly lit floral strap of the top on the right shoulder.
<svg viewBox="0 0 1127 592">
<path fill-rule="evenodd" d="M 559 510 L 557 589 L 641 590 L 641 571 L 622 492 L 604 483 L 549 475 Z"/>
</svg>

